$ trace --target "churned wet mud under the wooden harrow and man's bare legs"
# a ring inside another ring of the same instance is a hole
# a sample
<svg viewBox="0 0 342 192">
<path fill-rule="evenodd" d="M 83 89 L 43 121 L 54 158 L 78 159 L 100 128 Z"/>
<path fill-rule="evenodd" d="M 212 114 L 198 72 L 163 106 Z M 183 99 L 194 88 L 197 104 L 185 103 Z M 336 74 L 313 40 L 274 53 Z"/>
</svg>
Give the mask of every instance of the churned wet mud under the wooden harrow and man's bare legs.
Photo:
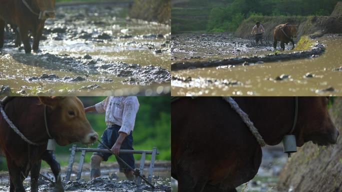
<svg viewBox="0 0 342 192">
<path fill-rule="evenodd" d="M 77 164 L 73 166 L 73 170 L 77 170 Z M 138 166 L 138 164 L 137 164 Z M 145 162 L 144 173 L 147 173 L 148 162 Z M 65 171 L 67 167 L 61 167 L 61 177 L 64 180 Z M 48 168 L 43 168 L 40 173 L 49 179 L 54 179 L 51 171 Z M 83 165 L 82 177 L 80 180 L 75 180 L 76 172 L 72 172 L 70 181 L 63 181 L 65 191 L 117 191 L 117 192 L 169 192 L 170 186 L 170 162 L 156 161 L 152 183 L 156 187 L 153 189 L 146 183 L 137 185 L 135 181 L 126 180 L 123 173 L 118 172 L 118 165 L 116 162 L 108 162 L 101 164 L 101 176 L 89 180 L 89 163 Z M 145 175 L 144 174 L 144 175 Z M 0 191 L 9 191 L 8 172 L 0 172 Z M 30 178 L 24 180 L 26 190 L 29 190 Z M 39 178 L 39 191 L 52 191 L 53 184 L 46 178 Z"/>
</svg>

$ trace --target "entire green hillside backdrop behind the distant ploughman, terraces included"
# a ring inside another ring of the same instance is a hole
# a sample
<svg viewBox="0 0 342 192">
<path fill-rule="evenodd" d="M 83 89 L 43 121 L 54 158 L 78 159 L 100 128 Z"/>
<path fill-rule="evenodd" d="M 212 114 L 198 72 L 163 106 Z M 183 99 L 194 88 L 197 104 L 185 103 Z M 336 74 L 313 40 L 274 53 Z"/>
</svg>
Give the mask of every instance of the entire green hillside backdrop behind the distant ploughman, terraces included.
<svg viewBox="0 0 342 192">
<path fill-rule="evenodd" d="M 235 31 L 249 17 L 330 15 L 338 0 L 178 0 L 172 33 Z M 338 14 L 338 10 L 335 10 Z"/>
</svg>

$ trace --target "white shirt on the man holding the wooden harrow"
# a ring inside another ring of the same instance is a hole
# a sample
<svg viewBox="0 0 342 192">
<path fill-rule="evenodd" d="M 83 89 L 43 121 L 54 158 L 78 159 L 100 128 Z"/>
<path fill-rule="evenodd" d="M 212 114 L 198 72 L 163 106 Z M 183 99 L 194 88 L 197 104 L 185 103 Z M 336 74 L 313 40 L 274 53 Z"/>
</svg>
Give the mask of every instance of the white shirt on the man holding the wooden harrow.
<svg viewBox="0 0 342 192">
<path fill-rule="evenodd" d="M 130 134 L 133 131 L 139 102 L 136 96 L 108 96 L 95 104 L 97 112 L 105 112 L 107 124 L 117 124 L 119 132 Z"/>
</svg>

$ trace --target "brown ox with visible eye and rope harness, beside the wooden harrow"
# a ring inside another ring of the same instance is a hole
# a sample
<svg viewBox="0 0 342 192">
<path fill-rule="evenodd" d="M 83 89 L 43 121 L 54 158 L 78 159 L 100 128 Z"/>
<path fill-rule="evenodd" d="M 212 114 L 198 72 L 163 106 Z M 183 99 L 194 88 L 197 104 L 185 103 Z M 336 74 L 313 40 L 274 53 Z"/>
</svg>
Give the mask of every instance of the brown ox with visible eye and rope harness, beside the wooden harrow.
<svg viewBox="0 0 342 192">
<path fill-rule="evenodd" d="M 59 145 L 80 141 L 84 144 L 97 140 L 97 133 L 85 117 L 83 104 L 77 97 L 14 97 L 5 104 L 8 118 L 20 132 L 33 142 L 25 142 L 13 131 L 0 115 L 0 150 L 6 157 L 10 191 L 25 191 L 22 181 L 30 172 L 31 191 L 38 190 L 38 175 L 41 159 L 51 167 L 56 178 L 56 191 L 63 191 L 60 167 L 52 155 L 46 151 L 47 135 L 44 121 L 46 105 L 47 127 Z"/>
</svg>

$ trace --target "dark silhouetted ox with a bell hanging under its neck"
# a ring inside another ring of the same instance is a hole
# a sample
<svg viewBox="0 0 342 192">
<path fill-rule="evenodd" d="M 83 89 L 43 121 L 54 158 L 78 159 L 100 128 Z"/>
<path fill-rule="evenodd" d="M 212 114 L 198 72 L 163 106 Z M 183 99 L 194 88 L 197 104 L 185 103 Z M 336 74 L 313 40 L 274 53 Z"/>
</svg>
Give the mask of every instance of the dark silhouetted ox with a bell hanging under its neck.
<svg viewBox="0 0 342 192">
<path fill-rule="evenodd" d="M 288 134 L 294 119 L 293 97 L 235 97 L 269 145 Z M 297 146 L 309 140 L 336 143 L 338 131 L 326 97 L 299 97 L 293 134 Z M 178 191 L 236 191 L 252 179 L 261 147 L 240 116 L 221 97 L 183 97 L 171 104 L 171 175 Z"/>
</svg>

